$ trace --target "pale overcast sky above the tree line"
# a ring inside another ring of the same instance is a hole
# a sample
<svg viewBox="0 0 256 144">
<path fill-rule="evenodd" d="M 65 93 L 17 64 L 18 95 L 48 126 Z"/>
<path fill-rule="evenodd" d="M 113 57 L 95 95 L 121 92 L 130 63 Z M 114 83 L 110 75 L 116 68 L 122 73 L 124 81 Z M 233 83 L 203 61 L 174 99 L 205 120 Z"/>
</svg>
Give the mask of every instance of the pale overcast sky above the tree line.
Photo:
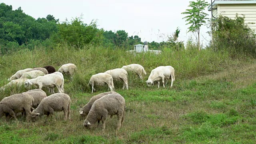
<svg viewBox="0 0 256 144">
<path fill-rule="evenodd" d="M 60 22 L 66 18 L 79 17 L 89 24 L 93 19 L 98 20 L 98 28 L 104 30 L 125 30 L 129 36 L 138 35 L 142 41 L 166 40 L 166 36 L 180 28 L 179 40 L 185 41 L 192 36 L 186 33 L 189 27 L 182 19 L 184 12 L 192 0 L 1 0 L 12 5 L 13 10 L 21 7 L 23 12 L 34 17 L 42 18 L 53 15 Z M 210 0 L 206 0 L 210 3 Z M 210 12 L 205 10 L 206 13 Z M 201 37 L 204 43 L 209 40 L 208 29 L 202 27 Z"/>
</svg>

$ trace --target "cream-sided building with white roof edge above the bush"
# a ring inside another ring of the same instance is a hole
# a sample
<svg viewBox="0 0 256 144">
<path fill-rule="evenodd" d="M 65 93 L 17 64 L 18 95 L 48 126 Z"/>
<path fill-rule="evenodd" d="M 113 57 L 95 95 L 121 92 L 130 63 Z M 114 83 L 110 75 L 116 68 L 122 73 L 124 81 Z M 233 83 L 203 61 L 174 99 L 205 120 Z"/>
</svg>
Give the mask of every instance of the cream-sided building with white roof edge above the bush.
<svg viewBox="0 0 256 144">
<path fill-rule="evenodd" d="M 236 14 L 244 15 L 245 23 L 256 30 L 256 0 L 214 0 L 212 6 L 208 6 L 208 11 L 212 11 L 214 18 L 220 15 L 228 18 L 235 18 Z"/>
</svg>

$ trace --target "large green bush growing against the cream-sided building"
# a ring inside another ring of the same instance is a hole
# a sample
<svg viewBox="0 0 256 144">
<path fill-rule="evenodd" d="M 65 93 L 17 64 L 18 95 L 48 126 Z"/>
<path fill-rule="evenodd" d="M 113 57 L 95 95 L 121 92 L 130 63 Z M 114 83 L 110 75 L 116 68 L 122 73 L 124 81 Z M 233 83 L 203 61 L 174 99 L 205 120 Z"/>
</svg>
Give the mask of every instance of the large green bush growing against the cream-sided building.
<svg viewBox="0 0 256 144">
<path fill-rule="evenodd" d="M 244 23 L 244 16 L 235 19 L 220 16 L 213 22 L 212 48 L 227 50 L 233 58 L 239 54 L 256 57 L 256 34 Z"/>
</svg>

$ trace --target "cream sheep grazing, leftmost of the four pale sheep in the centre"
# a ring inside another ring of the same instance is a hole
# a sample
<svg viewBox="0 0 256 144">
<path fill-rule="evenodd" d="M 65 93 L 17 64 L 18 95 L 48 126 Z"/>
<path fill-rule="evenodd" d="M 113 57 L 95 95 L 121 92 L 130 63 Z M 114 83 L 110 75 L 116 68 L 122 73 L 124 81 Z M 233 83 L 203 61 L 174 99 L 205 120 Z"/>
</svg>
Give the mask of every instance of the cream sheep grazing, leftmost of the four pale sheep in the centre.
<svg viewBox="0 0 256 144">
<path fill-rule="evenodd" d="M 114 90 L 113 78 L 110 74 L 98 73 L 98 74 L 92 75 L 89 83 L 87 84 L 87 86 L 89 86 L 89 85 L 92 86 L 92 93 L 93 93 L 93 91 L 96 91 L 94 88 L 94 84 L 98 84 L 101 86 L 107 84 L 108 87 L 110 88 L 111 92 L 113 92 L 113 90 Z"/>
</svg>

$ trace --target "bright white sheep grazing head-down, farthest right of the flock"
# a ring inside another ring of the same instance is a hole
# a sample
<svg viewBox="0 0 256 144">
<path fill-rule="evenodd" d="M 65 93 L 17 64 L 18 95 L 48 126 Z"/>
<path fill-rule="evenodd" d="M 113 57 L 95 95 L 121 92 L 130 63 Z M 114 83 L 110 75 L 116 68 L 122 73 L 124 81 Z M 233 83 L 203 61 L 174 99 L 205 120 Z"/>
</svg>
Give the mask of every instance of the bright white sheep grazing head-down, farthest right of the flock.
<svg viewBox="0 0 256 144">
<path fill-rule="evenodd" d="M 174 76 L 174 68 L 172 66 L 159 66 L 155 69 L 153 69 L 148 77 L 148 80 L 146 81 L 147 86 L 151 86 L 154 81 L 158 82 L 158 88 L 160 86 L 160 80 L 162 79 L 163 87 L 164 86 L 164 80 L 166 80 L 167 84 L 167 79 L 171 78 L 172 83 L 170 88 L 172 87 L 172 84 L 175 80 Z"/>
</svg>

